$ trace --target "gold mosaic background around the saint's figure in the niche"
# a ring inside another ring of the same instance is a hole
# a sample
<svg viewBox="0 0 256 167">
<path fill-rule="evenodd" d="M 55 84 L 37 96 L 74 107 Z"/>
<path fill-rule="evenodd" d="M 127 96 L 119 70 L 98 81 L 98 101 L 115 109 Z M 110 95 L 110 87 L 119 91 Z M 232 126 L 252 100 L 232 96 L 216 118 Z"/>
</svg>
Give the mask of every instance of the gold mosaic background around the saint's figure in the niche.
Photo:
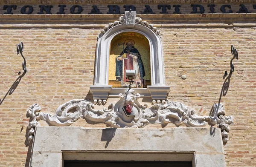
<svg viewBox="0 0 256 167">
<path fill-rule="evenodd" d="M 151 69 L 150 69 L 150 48 L 148 39 L 143 35 L 136 32 L 123 32 L 111 41 L 110 58 L 109 58 L 109 80 L 116 80 L 116 57 L 122 52 L 122 44 L 118 46 L 118 43 L 125 42 L 127 39 L 134 40 L 134 47 L 140 52 L 144 69 L 145 69 L 145 80 L 151 80 Z M 124 48 L 126 46 L 124 45 Z"/>
</svg>

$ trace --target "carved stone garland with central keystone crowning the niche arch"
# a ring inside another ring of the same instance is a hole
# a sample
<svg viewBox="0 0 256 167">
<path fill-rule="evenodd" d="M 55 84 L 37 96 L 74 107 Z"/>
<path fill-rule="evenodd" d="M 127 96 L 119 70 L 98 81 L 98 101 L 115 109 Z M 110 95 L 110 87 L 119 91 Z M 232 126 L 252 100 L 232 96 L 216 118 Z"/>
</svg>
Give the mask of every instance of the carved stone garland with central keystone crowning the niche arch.
<svg viewBox="0 0 256 167">
<path fill-rule="evenodd" d="M 117 26 L 119 24 L 126 24 L 127 28 L 133 28 L 135 23 L 141 24 L 151 29 L 156 35 L 160 35 L 160 31 L 157 30 L 157 28 L 154 27 L 153 24 L 148 24 L 148 22 L 143 21 L 140 17 L 136 17 L 136 11 L 125 11 L 125 15 L 119 17 L 119 20 L 114 21 L 114 23 L 109 23 L 108 26 L 105 26 L 104 29 L 101 30 L 101 33 L 98 35 L 97 40 L 113 26 Z"/>
</svg>

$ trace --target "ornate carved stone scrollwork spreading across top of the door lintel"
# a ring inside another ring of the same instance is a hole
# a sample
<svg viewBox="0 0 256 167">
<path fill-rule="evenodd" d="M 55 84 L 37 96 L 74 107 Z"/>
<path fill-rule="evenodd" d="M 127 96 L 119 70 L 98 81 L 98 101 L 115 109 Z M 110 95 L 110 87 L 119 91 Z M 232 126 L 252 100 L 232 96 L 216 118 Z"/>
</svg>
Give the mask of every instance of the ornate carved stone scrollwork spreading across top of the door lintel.
<svg viewBox="0 0 256 167">
<path fill-rule="evenodd" d="M 110 104 L 108 109 L 94 109 L 94 104 L 83 99 L 74 99 L 59 106 L 55 115 L 40 112 L 41 107 L 34 104 L 27 109 L 30 117 L 28 125 L 28 141 L 32 141 L 36 126 L 40 126 L 40 120 L 46 121 L 49 126 L 69 126 L 76 120 L 84 118 L 87 123 L 104 123 L 107 127 L 113 128 L 143 128 L 147 124 L 175 124 L 177 127 L 184 124 L 186 127 L 204 127 L 216 125 L 221 128 L 223 141 L 228 140 L 229 126 L 233 123 L 231 116 L 225 116 L 222 104 L 214 104 L 211 115 L 198 116 L 194 109 L 186 105 L 166 100 L 166 103 L 154 104 L 148 107 L 147 104 L 140 104 L 139 93 L 133 89 L 127 89 L 119 94 L 120 100 L 116 104 Z M 129 106 L 128 113 L 125 107 Z"/>
</svg>

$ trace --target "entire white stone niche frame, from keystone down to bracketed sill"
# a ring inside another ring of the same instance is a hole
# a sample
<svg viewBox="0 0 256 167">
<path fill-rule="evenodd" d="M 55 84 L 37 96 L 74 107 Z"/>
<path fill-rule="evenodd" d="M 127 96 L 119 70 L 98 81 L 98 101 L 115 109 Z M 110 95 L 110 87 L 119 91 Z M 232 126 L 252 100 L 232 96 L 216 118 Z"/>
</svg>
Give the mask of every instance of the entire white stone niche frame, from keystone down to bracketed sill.
<svg viewBox="0 0 256 167">
<path fill-rule="evenodd" d="M 108 85 L 108 72 L 109 72 L 109 56 L 111 40 L 123 32 L 135 32 L 145 36 L 149 42 L 150 48 L 150 66 L 151 66 L 151 86 L 147 88 L 135 88 L 137 93 L 142 97 L 151 97 L 152 100 L 164 100 L 169 93 L 169 87 L 165 86 L 164 67 L 163 67 L 163 50 L 161 38 L 152 29 L 148 28 L 153 25 L 135 23 L 135 17 L 129 18 L 129 14 L 134 12 L 125 12 L 124 17 L 119 18 L 119 24 L 116 26 L 106 26 L 102 31 L 104 35 L 100 35 L 96 46 L 96 59 L 95 59 L 95 75 L 94 85 L 90 86 L 90 91 L 93 94 L 94 102 L 105 103 L 108 97 L 118 97 L 119 93 L 123 93 L 127 88 L 112 88 Z M 135 12 L 136 16 L 136 12 Z M 136 17 L 140 18 L 140 17 Z M 141 19 L 140 19 L 141 20 Z M 116 22 L 114 22 L 116 23 Z M 152 28 L 151 27 L 151 28 Z"/>
</svg>

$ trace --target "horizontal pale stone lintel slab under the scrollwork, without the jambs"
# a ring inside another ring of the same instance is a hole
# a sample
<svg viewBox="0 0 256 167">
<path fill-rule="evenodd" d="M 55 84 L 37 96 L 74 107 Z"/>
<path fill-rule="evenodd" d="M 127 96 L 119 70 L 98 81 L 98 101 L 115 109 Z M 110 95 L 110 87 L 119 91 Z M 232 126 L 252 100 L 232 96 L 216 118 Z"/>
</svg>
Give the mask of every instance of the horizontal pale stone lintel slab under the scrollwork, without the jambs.
<svg viewBox="0 0 256 167">
<path fill-rule="evenodd" d="M 223 154 L 220 129 L 36 127 L 33 151 L 196 151 Z M 132 141 L 132 144 L 127 141 Z M 72 144 L 71 144 L 72 143 Z M 106 144 L 108 146 L 106 147 Z"/>
</svg>

